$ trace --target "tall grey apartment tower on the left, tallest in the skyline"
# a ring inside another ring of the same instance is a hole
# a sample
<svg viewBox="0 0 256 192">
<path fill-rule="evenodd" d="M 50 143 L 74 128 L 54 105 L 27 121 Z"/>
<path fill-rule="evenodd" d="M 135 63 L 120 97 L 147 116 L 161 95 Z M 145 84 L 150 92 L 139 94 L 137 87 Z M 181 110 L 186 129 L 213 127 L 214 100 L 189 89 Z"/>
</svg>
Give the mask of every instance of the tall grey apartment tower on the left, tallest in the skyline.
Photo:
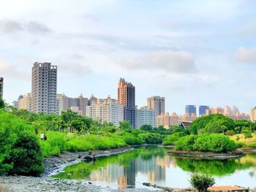
<svg viewBox="0 0 256 192">
<path fill-rule="evenodd" d="M 32 67 L 31 111 L 57 113 L 57 66 L 34 63 Z"/>
</svg>

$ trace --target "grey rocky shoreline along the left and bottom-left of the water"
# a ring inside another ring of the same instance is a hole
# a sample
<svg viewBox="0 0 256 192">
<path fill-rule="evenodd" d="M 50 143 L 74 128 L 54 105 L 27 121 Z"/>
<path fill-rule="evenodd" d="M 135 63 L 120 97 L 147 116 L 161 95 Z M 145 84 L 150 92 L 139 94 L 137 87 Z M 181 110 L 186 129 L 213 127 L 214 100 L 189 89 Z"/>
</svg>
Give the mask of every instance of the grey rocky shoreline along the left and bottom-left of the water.
<svg viewBox="0 0 256 192">
<path fill-rule="evenodd" d="M 108 157 L 110 155 L 117 155 L 120 153 L 126 153 L 129 150 L 133 150 L 132 147 L 120 147 L 116 149 L 108 150 L 96 150 L 94 151 L 95 158 Z M 49 177 L 53 174 L 62 172 L 66 166 L 78 164 L 90 155 L 88 152 L 64 152 L 58 156 L 45 158 L 45 172 L 40 177 L 26 177 L 26 176 L 5 176 L 0 177 L 0 191 L 1 192 L 79 192 L 79 191 L 110 191 L 117 192 L 118 190 L 111 189 L 109 187 L 102 188 L 101 186 L 93 185 L 93 183 L 84 180 L 60 180 Z M 148 192 L 149 189 L 127 189 L 125 191 L 132 192 Z"/>
</svg>

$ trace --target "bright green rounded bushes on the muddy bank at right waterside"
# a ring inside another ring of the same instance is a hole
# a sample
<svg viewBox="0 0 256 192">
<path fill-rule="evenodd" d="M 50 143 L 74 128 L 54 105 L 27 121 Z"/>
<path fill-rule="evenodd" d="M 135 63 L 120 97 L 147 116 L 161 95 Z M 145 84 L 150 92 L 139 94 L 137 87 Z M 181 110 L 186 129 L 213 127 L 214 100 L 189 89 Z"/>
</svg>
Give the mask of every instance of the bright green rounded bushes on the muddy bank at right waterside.
<svg viewBox="0 0 256 192">
<path fill-rule="evenodd" d="M 176 142 L 176 150 L 227 152 L 235 149 L 235 142 L 222 134 L 189 135 Z"/>
</svg>

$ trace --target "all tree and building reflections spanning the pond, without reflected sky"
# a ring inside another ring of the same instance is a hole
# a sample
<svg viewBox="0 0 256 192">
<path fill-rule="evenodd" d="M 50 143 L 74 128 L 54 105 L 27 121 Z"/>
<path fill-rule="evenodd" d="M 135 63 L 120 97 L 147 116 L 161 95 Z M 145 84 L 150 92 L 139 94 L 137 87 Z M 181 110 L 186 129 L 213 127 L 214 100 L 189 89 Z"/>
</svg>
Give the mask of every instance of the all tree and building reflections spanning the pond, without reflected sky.
<svg viewBox="0 0 256 192">
<path fill-rule="evenodd" d="M 249 175 L 256 177 L 256 155 L 246 155 L 235 160 L 207 161 L 176 158 L 166 155 L 167 151 L 157 146 L 137 147 L 128 153 L 98 158 L 95 164 L 81 162 L 68 166 L 64 173 L 55 177 L 116 182 L 119 189 L 134 188 L 138 173 L 146 175 L 148 181 L 152 183 L 165 181 L 165 172 L 170 166 L 179 166 L 186 172 L 202 172 L 215 176 L 233 174 L 237 170 L 252 168 Z"/>
</svg>

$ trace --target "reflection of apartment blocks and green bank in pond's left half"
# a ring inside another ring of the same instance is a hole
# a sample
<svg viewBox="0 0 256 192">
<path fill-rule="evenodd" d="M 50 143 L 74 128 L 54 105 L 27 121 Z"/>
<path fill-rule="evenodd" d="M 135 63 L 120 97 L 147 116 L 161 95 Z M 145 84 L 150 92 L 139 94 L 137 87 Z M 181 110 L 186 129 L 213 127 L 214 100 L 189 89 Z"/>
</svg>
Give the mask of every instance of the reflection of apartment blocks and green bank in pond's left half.
<svg viewBox="0 0 256 192">
<path fill-rule="evenodd" d="M 67 166 L 64 173 L 54 177 L 106 182 L 118 181 L 119 185 L 134 188 L 135 176 L 138 172 L 147 174 L 151 180 L 165 180 L 165 167 L 157 164 L 157 158 L 164 158 L 166 151 L 166 149 L 157 146 L 136 147 L 135 150 L 128 153 L 98 158 L 95 164 L 81 162 Z"/>
</svg>

